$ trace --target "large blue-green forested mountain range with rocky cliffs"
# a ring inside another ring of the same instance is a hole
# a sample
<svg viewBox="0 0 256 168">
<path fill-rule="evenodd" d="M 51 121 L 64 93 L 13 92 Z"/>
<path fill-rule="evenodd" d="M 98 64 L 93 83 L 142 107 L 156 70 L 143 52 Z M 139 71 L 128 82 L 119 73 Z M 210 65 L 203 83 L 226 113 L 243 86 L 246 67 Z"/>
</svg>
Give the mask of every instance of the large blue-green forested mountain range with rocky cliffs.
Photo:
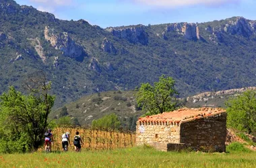
<svg viewBox="0 0 256 168">
<path fill-rule="evenodd" d="M 256 85 L 256 21 L 100 28 L 0 1 L 0 92 L 43 71 L 55 108 L 83 95 L 133 90 L 164 74 L 180 97 Z"/>
</svg>

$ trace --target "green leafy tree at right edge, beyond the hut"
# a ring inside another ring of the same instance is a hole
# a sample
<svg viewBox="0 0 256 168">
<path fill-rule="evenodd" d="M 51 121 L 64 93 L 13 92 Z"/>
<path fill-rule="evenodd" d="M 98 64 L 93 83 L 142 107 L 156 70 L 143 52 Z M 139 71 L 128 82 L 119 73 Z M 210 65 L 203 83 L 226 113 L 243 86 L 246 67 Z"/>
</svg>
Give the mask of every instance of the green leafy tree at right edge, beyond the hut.
<svg viewBox="0 0 256 168">
<path fill-rule="evenodd" d="M 245 91 L 225 102 L 227 124 L 249 134 L 256 134 L 256 92 Z"/>
</svg>

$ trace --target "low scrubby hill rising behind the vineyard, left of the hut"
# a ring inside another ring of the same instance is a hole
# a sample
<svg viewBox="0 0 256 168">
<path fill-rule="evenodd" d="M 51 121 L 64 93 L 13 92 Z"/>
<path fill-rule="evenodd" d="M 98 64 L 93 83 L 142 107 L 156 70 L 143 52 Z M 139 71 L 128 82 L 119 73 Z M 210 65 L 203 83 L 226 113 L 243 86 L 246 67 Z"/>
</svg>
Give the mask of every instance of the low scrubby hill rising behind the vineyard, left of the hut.
<svg viewBox="0 0 256 168">
<path fill-rule="evenodd" d="M 65 104 L 67 116 L 73 118 L 73 122 L 77 120 L 79 125 L 87 126 L 92 124 L 92 120 L 115 113 L 123 129 L 135 130 L 137 118 L 143 114 L 137 107 L 136 93 L 136 91 L 106 91 L 81 97 L 77 101 Z M 50 118 L 58 120 L 62 112 L 63 108 L 59 108 L 51 112 Z"/>
</svg>

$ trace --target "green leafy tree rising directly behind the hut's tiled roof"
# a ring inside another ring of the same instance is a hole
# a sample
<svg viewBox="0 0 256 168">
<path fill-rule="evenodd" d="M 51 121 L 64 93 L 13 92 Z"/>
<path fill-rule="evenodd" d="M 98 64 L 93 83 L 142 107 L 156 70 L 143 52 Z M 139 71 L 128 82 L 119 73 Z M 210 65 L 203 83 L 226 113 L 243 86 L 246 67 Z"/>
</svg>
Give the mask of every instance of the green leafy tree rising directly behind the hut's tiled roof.
<svg viewBox="0 0 256 168">
<path fill-rule="evenodd" d="M 175 81 L 172 77 L 162 75 L 154 85 L 142 83 L 136 95 L 137 103 L 146 115 L 162 114 L 175 110 L 174 95 L 179 93 L 174 88 Z"/>
</svg>

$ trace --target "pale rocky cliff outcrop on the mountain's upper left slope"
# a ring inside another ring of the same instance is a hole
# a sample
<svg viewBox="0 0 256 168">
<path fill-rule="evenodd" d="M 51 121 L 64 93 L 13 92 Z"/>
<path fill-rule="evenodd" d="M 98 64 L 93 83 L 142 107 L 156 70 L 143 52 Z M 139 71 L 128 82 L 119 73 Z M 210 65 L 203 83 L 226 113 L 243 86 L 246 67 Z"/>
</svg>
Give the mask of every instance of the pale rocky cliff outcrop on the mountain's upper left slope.
<svg viewBox="0 0 256 168">
<path fill-rule="evenodd" d="M 75 44 L 66 32 L 57 34 L 54 29 L 46 26 L 44 29 L 44 38 L 49 40 L 56 50 L 61 50 L 64 56 L 76 58 L 84 54 L 84 48 Z"/>
</svg>

